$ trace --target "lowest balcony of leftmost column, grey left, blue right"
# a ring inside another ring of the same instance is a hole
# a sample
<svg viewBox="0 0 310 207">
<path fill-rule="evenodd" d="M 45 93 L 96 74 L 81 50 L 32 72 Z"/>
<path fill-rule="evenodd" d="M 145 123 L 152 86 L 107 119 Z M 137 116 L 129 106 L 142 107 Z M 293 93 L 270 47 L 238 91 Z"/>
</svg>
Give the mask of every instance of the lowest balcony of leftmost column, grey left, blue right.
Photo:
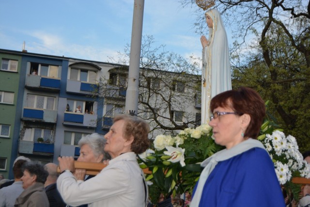
<svg viewBox="0 0 310 207">
<path fill-rule="evenodd" d="M 52 156 L 54 154 L 54 143 L 38 143 L 20 140 L 19 153 Z"/>
</svg>

